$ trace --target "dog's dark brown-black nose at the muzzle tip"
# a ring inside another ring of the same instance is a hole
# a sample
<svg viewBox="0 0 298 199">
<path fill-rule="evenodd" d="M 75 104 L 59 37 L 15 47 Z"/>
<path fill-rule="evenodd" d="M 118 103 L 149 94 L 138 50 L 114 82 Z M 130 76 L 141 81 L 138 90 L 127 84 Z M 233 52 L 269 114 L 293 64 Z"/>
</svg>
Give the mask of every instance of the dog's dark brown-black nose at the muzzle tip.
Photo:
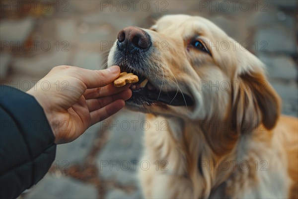
<svg viewBox="0 0 298 199">
<path fill-rule="evenodd" d="M 117 45 L 120 50 L 133 51 L 134 49 L 147 49 L 151 45 L 147 32 L 137 27 L 126 27 L 118 33 Z"/>
</svg>

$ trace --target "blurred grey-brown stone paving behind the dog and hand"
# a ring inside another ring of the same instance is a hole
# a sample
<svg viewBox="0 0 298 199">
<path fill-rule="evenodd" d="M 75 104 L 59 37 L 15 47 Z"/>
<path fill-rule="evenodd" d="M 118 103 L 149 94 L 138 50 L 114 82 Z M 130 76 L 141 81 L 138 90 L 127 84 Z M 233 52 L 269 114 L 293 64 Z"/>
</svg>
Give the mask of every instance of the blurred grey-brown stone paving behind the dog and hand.
<svg viewBox="0 0 298 199">
<path fill-rule="evenodd" d="M 267 64 L 283 113 L 298 116 L 296 0 L 1 0 L 0 81 L 23 91 L 58 65 L 102 69 L 117 33 L 165 14 L 200 15 Z M 19 198 L 142 198 L 142 113 L 121 110 L 59 145 L 49 173 Z M 143 123 L 142 123 L 143 122 Z M 151 166 L 154 163 L 150 163 Z"/>
</svg>

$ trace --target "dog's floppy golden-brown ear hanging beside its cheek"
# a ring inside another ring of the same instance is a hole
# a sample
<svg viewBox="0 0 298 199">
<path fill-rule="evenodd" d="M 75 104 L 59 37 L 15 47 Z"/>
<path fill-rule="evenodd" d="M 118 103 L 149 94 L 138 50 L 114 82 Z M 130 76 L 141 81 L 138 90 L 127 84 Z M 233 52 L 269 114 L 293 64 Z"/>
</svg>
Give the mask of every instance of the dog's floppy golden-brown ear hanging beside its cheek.
<svg viewBox="0 0 298 199">
<path fill-rule="evenodd" d="M 232 114 L 238 124 L 235 130 L 243 133 L 260 123 L 272 129 L 280 114 L 280 99 L 265 78 L 262 62 L 248 51 L 242 53 L 245 56 L 238 57 L 240 70 L 233 88 Z"/>
</svg>

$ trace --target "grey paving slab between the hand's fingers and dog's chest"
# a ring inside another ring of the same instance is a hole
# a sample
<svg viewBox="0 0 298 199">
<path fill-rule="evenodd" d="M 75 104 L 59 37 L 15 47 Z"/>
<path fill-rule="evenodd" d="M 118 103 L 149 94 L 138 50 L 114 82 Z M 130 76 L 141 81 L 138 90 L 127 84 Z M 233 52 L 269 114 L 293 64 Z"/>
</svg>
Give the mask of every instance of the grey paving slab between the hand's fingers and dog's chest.
<svg viewBox="0 0 298 199">
<path fill-rule="evenodd" d="M 122 114 L 121 114 L 122 113 Z M 123 110 L 109 124 L 110 139 L 97 156 L 100 177 L 120 184 L 135 184 L 135 172 L 142 153 L 143 113 Z"/>
</svg>

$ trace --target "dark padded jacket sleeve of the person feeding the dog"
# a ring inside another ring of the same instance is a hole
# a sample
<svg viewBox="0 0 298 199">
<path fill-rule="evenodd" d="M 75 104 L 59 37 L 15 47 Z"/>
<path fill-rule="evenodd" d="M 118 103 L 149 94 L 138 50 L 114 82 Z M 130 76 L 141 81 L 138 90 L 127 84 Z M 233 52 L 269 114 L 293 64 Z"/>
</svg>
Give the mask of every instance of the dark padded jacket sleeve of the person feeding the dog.
<svg viewBox="0 0 298 199">
<path fill-rule="evenodd" d="M 0 86 L 0 198 L 40 181 L 55 159 L 54 134 L 34 97 Z"/>
</svg>

